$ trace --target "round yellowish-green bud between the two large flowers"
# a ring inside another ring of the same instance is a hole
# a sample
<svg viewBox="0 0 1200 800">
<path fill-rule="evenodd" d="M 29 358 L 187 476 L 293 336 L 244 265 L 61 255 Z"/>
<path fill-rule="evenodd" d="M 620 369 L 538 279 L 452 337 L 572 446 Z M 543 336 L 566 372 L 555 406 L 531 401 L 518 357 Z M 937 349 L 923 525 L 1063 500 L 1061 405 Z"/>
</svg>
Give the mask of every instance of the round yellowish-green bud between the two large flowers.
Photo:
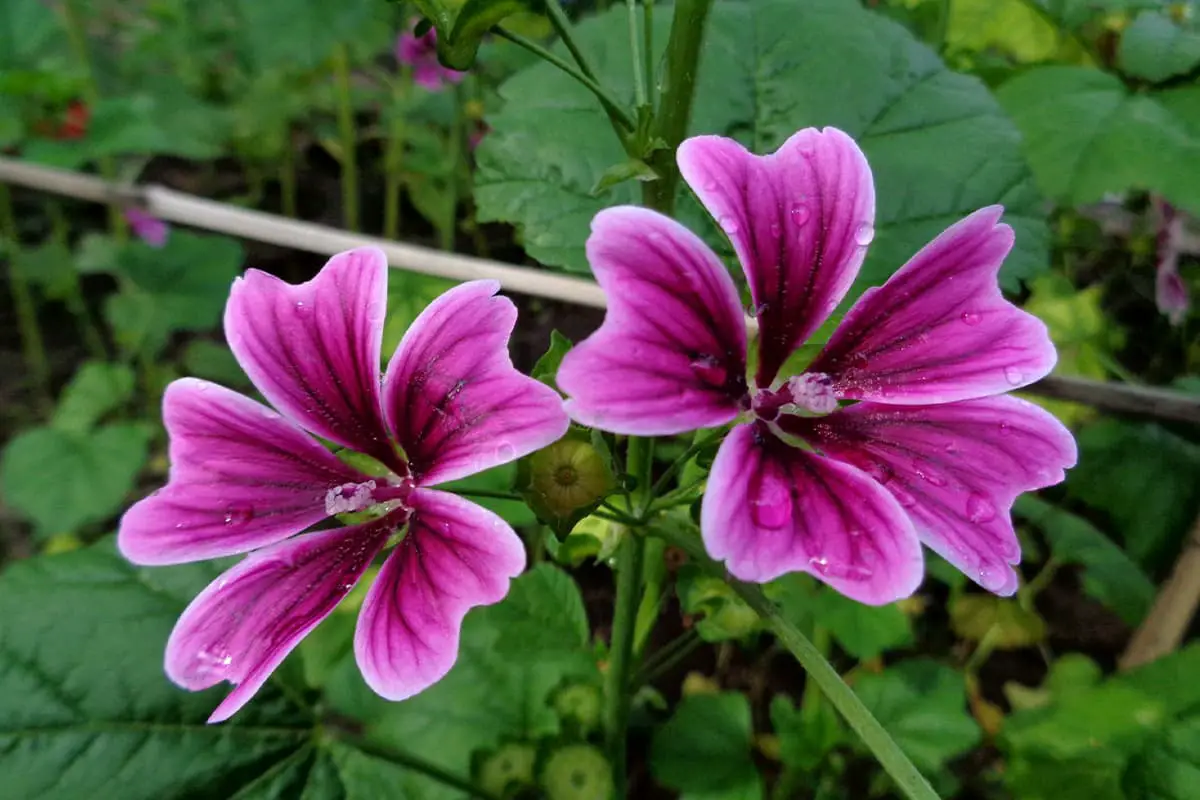
<svg viewBox="0 0 1200 800">
<path fill-rule="evenodd" d="M 538 518 L 562 535 L 600 505 L 613 477 L 587 434 L 568 433 L 521 459 L 517 486 Z"/>
</svg>

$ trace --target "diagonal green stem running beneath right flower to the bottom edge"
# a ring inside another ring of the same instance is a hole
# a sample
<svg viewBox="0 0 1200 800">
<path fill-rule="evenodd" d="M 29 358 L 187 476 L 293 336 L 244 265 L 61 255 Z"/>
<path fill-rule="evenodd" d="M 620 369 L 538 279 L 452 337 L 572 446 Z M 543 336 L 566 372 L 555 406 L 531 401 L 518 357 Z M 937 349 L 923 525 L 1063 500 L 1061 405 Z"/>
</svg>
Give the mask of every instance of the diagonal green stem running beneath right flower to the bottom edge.
<svg viewBox="0 0 1200 800">
<path fill-rule="evenodd" d="M 697 536 L 671 528 L 654 528 L 650 533 L 683 549 L 696 564 L 707 565 L 714 575 L 724 576 L 724 570 L 708 558 Z M 725 579 L 730 588 L 767 622 L 779 643 L 800 662 L 809 679 L 815 681 L 833 703 L 834 708 L 895 781 L 901 793 L 910 800 L 937 800 L 937 793 L 934 792 L 925 776 L 913 766 L 895 740 L 863 705 L 863 702 L 821 655 L 821 651 L 798 627 L 780 614 L 779 608 L 763 594 L 762 589 L 728 576 L 725 576 Z"/>
</svg>

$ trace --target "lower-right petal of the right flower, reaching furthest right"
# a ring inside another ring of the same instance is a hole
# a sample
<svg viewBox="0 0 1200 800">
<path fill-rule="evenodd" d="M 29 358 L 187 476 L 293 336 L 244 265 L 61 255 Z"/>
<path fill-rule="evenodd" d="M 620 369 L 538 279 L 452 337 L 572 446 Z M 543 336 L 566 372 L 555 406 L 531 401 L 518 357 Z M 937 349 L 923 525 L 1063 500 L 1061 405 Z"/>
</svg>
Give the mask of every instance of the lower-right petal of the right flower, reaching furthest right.
<svg viewBox="0 0 1200 800">
<path fill-rule="evenodd" d="M 790 417 L 785 427 L 875 477 L 925 545 L 998 595 L 1018 584 L 1013 500 L 1061 482 L 1076 457 L 1075 440 L 1058 420 L 1015 397 L 858 403 L 827 417 Z"/>
</svg>

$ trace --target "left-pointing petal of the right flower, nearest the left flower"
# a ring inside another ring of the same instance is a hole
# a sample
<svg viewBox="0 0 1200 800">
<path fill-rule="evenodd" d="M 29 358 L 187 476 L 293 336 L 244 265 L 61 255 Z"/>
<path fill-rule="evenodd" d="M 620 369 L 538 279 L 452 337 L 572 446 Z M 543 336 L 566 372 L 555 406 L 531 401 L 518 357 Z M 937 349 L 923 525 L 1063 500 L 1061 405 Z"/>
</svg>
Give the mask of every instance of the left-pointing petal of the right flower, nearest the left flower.
<svg viewBox="0 0 1200 800">
<path fill-rule="evenodd" d="M 604 325 L 563 359 L 566 409 L 592 427 L 666 435 L 724 425 L 746 393 L 746 331 L 733 279 L 698 236 L 647 209 L 592 222 Z"/>
</svg>

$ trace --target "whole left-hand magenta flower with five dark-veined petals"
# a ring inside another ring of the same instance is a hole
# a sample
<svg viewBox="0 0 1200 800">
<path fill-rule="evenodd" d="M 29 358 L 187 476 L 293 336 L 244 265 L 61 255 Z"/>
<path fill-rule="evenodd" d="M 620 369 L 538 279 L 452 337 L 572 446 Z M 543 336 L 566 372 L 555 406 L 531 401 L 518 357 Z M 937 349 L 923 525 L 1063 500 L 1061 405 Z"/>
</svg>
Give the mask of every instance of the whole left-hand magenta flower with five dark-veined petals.
<svg viewBox="0 0 1200 800">
<path fill-rule="evenodd" d="M 524 567 L 504 521 L 430 488 L 566 431 L 558 395 L 509 360 L 516 308 L 493 296 L 498 288 L 474 281 L 433 301 L 380 381 L 382 252 L 335 255 L 300 285 L 257 270 L 234 283 L 229 347 L 278 411 L 206 381 L 172 384 L 170 479 L 130 509 L 118 535 L 137 564 L 253 551 L 192 601 L 167 643 L 167 674 L 180 686 L 236 685 L 210 721 L 240 709 L 401 531 L 354 637 L 367 684 L 389 699 L 440 679 L 467 610 L 499 601 Z M 386 469 L 362 473 L 310 433 Z M 365 510 L 374 518 L 295 536 Z"/>
</svg>

